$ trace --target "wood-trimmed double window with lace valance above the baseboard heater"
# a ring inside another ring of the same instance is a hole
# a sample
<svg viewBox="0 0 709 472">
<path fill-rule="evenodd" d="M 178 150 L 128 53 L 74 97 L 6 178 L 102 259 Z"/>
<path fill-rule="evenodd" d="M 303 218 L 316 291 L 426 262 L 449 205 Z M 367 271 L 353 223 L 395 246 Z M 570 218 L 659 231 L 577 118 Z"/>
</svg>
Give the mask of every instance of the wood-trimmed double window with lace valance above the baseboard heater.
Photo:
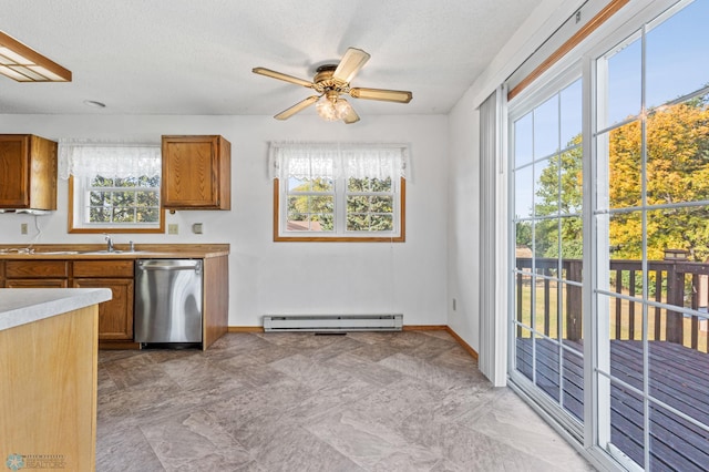
<svg viewBox="0 0 709 472">
<path fill-rule="evenodd" d="M 408 148 L 274 144 L 274 240 L 403 242 Z"/>
</svg>

